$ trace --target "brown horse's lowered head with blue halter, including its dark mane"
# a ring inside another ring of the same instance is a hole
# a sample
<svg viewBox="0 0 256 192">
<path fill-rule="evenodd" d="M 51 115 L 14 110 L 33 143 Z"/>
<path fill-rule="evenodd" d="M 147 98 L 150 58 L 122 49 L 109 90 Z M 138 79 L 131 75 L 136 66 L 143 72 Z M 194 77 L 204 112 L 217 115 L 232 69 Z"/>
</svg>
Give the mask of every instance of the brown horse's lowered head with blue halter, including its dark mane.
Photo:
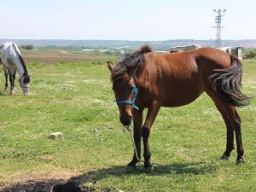
<svg viewBox="0 0 256 192">
<path fill-rule="evenodd" d="M 119 106 L 119 118 L 123 125 L 131 125 L 132 108 L 139 110 L 135 104 L 138 93 L 135 80 L 139 85 L 138 79 L 142 76 L 144 69 L 144 55 L 151 51 L 152 49 L 145 44 L 131 55 L 125 55 L 125 58 L 115 67 L 108 61 L 115 102 Z"/>
</svg>

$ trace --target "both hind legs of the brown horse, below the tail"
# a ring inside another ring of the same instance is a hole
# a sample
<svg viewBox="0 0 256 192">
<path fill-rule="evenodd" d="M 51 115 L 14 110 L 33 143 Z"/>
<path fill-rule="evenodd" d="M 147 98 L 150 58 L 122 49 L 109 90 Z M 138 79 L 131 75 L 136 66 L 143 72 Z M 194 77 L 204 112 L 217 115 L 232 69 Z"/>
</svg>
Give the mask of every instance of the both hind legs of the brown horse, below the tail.
<svg viewBox="0 0 256 192">
<path fill-rule="evenodd" d="M 241 119 L 238 113 L 236 112 L 236 108 L 230 105 L 225 104 L 216 96 L 212 96 L 213 102 L 215 103 L 218 111 L 222 114 L 224 122 L 227 126 L 227 143 L 226 150 L 222 156 L 222 160 L 227 160 L 230 158 L 230 152 L 234 149 L 234 131 L 236 132 L 236 146 L 237 146 L 237 158 L 236 164 L 241 164 L 244 162 L 243 160 L 243 146 L 241 141 Z"/>
</svg>

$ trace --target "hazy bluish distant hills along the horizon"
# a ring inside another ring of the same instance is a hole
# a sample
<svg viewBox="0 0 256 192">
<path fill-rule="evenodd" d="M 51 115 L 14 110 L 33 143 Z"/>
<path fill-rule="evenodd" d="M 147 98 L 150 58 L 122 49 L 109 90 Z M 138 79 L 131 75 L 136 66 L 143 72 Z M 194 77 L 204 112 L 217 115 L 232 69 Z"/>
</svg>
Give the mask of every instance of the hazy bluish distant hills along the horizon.
<svg viewBox="0 0 256 192">
<path fill-rule="evenodd" d="M 122 41 L 122 40 L 56 40 L 56 39 L 0 39 L 0 43 L 11 41 L 18 45 L 33 44 L 34 47 L 71 47 L 83 49 L 137 49 L 142 44 L 150 44 L 154 49 L 168 50 L 170 47 L 199 44 L 214 47 L 215 40 L 174 39 L 165 41 Z M 256 39 L 222 40 L 222 46 L 241 46 L 246 49 L 256 48 Z"/>
</svg>

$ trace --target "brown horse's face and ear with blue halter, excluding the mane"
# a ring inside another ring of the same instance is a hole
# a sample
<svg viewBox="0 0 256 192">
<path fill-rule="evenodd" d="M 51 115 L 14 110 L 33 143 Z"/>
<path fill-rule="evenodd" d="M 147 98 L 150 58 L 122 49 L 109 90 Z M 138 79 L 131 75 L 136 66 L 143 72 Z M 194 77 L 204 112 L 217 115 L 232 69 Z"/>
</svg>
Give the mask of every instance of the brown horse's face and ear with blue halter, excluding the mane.
<svg viewBox="0 0 256 192">
<path fill-rule="evenodd" d="M 113 64 L 108 61 L 108 68 L 113 74 Z M 122 78 L 113 80 L 113 92 L 115 102 L 119 107 L 119 119 L 123 125 L 131 125 L 131 110 L 137 108 L 135 100 L 137 97 L 137 87 L 134 78 L 129 73 L 124 73 Z"/>
</svg>

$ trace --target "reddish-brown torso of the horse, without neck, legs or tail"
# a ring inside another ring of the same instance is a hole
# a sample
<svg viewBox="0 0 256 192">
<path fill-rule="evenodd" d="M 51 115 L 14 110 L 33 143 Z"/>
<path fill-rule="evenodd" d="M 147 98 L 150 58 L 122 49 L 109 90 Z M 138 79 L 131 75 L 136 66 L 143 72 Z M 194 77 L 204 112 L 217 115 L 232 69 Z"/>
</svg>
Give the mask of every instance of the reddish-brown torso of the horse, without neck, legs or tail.
<svg viewBox="0 0 256 192">
<path fill-rule="evenodd" d="M 213 48 L 150 52 L 145 55 L 145 65 L 152 90 L 157 90 L 163 106 L 177 107 L 195 101 L 207 90 L 214 69 L 230 67 L 230 55 Z"/>
</svg>

